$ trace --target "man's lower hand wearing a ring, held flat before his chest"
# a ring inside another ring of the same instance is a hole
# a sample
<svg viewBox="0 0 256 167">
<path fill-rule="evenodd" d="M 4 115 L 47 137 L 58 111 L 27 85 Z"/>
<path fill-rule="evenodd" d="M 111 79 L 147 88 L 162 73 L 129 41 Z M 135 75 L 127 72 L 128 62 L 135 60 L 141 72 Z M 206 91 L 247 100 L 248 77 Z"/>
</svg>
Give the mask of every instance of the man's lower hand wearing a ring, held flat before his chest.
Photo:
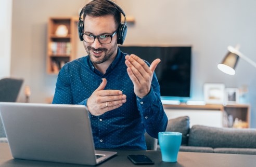
<svg viewBox="0 0 256 167">
<path fill-rule="evenodd" d="M 104 90 L 107 79 L 103 79 L 99 87 L 87 101 L 87 108 L 92 115 L 99 116 L 112 109 L 121 107 L 126 102 L 126 95 L 120 90 Z"/>
</svg>

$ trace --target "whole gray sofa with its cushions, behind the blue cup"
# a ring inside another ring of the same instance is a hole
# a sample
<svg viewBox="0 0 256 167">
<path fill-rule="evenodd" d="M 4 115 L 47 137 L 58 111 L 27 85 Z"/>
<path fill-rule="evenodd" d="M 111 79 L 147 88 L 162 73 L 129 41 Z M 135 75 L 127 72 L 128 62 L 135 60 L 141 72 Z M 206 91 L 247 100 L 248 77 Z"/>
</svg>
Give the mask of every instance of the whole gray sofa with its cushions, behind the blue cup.
<svg viewBox="0 0 256 167">
<path fill-rule="evenodd" d="M 180 151 L 256 155 L 256 129 L 200 125 L 189 128 L 189 117 L 184 116 L 170 119 L 166 131 L 182 133 Z M 157 150 L 160 150 L 159 145 Z"/>
</svg>

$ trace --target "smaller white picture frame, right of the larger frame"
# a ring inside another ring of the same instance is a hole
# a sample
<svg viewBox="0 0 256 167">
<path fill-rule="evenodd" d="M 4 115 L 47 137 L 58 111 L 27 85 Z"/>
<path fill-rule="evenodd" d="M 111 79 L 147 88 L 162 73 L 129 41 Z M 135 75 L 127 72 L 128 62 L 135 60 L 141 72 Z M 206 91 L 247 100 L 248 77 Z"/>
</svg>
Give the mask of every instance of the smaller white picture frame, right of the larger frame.
<svg viewBox="0 0 256 167">
<path fill-rule="evenodd" d="M 226 104 L 239 103 L 239 89 L 238 88 L 226 88 L 225 89 L 225 103 Z"/>
</svg>

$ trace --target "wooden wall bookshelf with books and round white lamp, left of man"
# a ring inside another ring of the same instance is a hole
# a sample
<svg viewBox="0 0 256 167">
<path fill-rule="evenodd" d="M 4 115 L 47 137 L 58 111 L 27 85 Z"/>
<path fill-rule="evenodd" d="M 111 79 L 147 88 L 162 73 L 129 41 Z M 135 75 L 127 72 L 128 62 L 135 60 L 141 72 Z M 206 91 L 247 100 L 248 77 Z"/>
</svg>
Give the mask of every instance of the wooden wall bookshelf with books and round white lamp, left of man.
<svg viewBox="0 0 256 167">
<path fill-rule="evenodd" d="M 58 74 L 60 68 L 75 59 L 77 30 L 73 17 L 51 17 L 47 35 L 47 73 Z"/>
</svg>

